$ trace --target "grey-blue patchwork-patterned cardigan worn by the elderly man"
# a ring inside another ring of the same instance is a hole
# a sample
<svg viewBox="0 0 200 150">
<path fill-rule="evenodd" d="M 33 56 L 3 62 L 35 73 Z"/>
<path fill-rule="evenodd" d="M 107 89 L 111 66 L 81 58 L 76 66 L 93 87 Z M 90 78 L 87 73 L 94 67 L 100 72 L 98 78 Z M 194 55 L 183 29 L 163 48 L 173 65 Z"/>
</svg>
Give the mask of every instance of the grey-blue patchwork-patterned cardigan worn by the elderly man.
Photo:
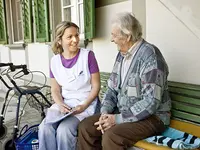
<svg viewBox="0 0 200 150">
<path fill-rule="evenodd" d="M 123 83 L 122 61 L 123 56 L 118 53 L 101 113 L 113 113 L 118 109 L 116 123 L 136 122 L 154 114 L 169 125 L 171 100 L 167 85 L 168 66 L 159 49 L 143 40 Z"/>
</svg>

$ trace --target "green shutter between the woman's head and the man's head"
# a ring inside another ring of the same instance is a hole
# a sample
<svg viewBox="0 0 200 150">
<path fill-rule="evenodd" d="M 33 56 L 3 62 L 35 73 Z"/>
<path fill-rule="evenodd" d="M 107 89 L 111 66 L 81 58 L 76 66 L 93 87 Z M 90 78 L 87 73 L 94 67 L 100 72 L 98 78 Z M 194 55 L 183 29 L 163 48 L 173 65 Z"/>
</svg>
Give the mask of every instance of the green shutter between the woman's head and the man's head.
<svg viewBox="0 0 200 150">
<path fill-rule="evenodd" d="M 85 39 L 95 36 L 95 0 L 84 0 L 84 27 Z"/>
</svg>

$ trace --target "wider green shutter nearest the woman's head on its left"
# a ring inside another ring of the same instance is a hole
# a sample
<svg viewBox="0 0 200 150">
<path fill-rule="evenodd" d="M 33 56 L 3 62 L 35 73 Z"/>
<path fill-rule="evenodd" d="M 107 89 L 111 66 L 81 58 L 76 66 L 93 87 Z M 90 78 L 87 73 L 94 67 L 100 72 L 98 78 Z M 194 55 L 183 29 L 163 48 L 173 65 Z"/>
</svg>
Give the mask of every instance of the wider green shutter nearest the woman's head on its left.
<svg viewBox="0 0 200 150">
<path fill-rule="evenodd" d="M 34 0 L 36 41 L 49 42 L 48 0 Z"/>
</svg>

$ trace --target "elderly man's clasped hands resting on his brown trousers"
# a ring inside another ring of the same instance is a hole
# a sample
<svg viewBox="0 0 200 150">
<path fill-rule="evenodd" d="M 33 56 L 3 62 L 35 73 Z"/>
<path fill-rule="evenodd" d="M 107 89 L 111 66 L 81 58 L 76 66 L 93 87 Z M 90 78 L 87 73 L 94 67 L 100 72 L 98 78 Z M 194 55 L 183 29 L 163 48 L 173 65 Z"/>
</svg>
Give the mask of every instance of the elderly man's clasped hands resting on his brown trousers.
<svg viewBox="0 0 200 150">
<path fill-rule="evenodd" d="M 115 115 L 102 114 L 99 121 L 95 122 L 94 125 L 98 126 L 97 130 L 101 130 L 101 133 L 104 134 L 106 130 L 115 125 Z"/>
</svg>

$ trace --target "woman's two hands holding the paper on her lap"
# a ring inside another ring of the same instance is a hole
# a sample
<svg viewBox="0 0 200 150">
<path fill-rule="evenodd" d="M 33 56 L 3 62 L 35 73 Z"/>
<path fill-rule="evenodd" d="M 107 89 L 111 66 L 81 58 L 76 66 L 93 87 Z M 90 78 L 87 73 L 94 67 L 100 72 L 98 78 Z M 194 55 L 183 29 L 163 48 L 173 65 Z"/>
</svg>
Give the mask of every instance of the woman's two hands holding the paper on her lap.
<svg viewBox="0 0 200 150">
<path fill-rule="evenodd" d="M 85 109 L 87 108 L 86 105 L 82 104 L 82 105 L 78 105 L 74 108 L 69 107 L 68 105 L 66 105 L 65 103 L 60 104 L 60 111 L 64 114 L 69 113 L 71 111 L 73 111 L 73 114 L 79 114 L 81 112 L 83 112 Z"/>
</svg>

